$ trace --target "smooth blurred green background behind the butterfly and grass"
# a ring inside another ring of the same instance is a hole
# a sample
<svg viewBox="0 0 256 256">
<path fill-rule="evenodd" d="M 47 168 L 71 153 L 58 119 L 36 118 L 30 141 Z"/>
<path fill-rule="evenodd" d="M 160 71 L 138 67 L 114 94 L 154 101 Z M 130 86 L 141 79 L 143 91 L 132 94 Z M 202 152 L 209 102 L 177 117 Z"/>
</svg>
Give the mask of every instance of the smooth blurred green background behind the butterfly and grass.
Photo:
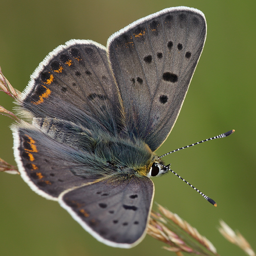
<svg viewBox="0 0 256 256">
<path fill-rule="evenodd" d="M 256 249 L 255 1 L 1 0 L 0 65 L 21 91 L 39 62 L 58 45 L 72 38 L 106 45 L 111 34 L 129 23 L 172 6 L 204 12 L 208 34 L 180 116 L 157 153 L 231 129 L 236 132 L 165 158 L 175 172 L 213 198 L 218 207 L 171 173 L 154 178 L 154 201 L 196 227 L 220 255 L 243 255 L 216 227 L 223 219 Z M 0 105 L 11 110 L 12 99 L 0 93 Z M 11 123 L 0 116 L 0 157 L 15 164 Z M 32 192 L 19 175 L 0 173 L 1 256 L 174 255 L 161 249 L 163 245 L 149 236 L 129 250 L 101 244 L 58 203 Z"/>
</svg>

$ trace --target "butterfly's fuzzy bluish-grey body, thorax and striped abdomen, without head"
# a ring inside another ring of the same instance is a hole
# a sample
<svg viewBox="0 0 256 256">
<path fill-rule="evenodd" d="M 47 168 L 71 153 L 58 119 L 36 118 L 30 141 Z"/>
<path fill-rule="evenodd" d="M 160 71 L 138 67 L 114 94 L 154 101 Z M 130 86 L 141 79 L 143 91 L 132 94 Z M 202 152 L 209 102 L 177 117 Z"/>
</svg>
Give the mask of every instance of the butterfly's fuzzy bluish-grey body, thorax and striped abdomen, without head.
<svg viewBox="0 0 256 256">
<path fill-rule="evenodd" d="M 113 136 L 108 132 L 52 118 L 35 118 L 33 124 L 47 137 L 60 143 L 58 148 L 66 151 L 66 160 L 72 163 L 70 171 L 77 176 L 148 176 L 151 166 L 160 163 L 159 157 L 142 139 L 128 134 Z M 55 148 L 49 144 L 47 154 L 51 154 L 50 151 L 55 151 Z M 64 165 L 64 161 L 61 161 L 59 164 Z"/>
</svg>

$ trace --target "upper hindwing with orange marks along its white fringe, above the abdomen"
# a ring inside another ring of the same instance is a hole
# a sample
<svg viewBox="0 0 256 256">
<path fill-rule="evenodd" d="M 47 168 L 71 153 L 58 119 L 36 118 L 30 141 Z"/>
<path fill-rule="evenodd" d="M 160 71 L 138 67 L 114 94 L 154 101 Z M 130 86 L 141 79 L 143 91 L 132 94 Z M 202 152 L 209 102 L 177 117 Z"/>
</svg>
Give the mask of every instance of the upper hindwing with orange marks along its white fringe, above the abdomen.
<svg viewBox="0 0 256 256">
<path fill-rule="evenodd" d="M 123 129 L 106 48 L 93 41 L 71 40 L 50 52 L 18 103 L 33 117 L 64 119 L 111 134 Z"/>
</svg>

